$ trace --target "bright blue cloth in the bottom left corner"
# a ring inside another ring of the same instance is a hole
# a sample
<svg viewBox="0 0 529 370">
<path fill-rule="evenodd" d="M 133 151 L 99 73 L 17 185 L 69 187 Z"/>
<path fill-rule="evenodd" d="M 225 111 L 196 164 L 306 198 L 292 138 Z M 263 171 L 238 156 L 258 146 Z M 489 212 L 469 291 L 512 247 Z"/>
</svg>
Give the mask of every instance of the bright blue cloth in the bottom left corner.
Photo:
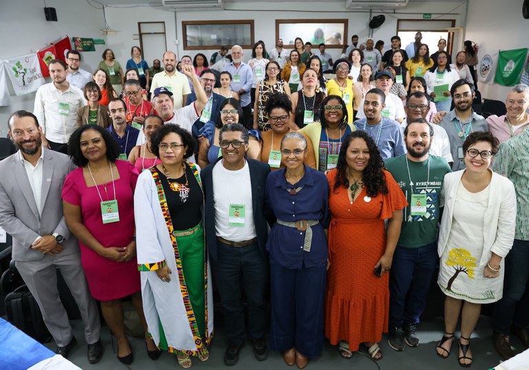
<svg viewBox="0 0 529 370">
<path fill-rule="evenodd" d="M 54 355 L 37 340 L 0 318 L 0 369 L 28 369 Z"/>
</svg>

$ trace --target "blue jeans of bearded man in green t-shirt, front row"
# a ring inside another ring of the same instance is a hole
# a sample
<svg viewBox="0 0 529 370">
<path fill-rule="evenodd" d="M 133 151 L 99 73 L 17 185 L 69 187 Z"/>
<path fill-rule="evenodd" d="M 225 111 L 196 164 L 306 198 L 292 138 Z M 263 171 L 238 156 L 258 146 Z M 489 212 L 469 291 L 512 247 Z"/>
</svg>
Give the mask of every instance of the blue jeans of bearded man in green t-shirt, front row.
<svg viewBox="0 0 529 370">
<path fill-rule="evenodd" d="M 397 245 L 389 274 L 389 325 L 419 323 L 439 262 L 437 243 L 404 248 Z"/>
</svg>

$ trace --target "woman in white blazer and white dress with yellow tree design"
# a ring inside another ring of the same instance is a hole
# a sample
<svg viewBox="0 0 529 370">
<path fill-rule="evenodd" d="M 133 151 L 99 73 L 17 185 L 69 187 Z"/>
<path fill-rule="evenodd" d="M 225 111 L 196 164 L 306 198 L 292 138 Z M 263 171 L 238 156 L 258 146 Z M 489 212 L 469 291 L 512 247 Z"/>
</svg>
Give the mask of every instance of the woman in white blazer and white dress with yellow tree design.
<svg viewBox="0 0 529 370">
<path fill-rule="evenodd" d="M 444 176 L 437 284 L 446 295 L 445 333 L 437 355 L 450 354 L 461 313 L 461 367 L 470 367 L 473 361 L 470 336 L 481 305 L 496 302 L 503 294 L 503 260 L 515 236 L 515 187 L 489 168 L 498 145 L 490 132 L 473 132 L 461 148 L 466 169 Z"/>
</svg>

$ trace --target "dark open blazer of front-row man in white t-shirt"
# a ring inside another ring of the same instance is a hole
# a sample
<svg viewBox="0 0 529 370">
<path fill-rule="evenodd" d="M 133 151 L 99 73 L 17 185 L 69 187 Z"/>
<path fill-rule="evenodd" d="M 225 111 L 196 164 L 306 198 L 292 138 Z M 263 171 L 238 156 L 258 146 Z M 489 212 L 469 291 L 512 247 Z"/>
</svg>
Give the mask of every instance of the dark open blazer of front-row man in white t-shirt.
<svg viewBox="0 0 529 370">
<path fill-rule="evenodd" d="M 205 232 L 209 258 L 218 260 L 217 236 L 215 229 L 215 207 L 213 198 L 213 167 L 222 159 L 211 163 L 200 172 L 205 198 Z M 267 257 L 267 218 L 264 216 L 264 183 L 270 173 L 270 166 L 254 159 L 246 158 L 250 170 L 251 202 L 253 207 L 253 223 L 256 225 L 257 243 L 264 258 Z M 219 164 L 222 165 L 222 164 Z"/>
</svg>

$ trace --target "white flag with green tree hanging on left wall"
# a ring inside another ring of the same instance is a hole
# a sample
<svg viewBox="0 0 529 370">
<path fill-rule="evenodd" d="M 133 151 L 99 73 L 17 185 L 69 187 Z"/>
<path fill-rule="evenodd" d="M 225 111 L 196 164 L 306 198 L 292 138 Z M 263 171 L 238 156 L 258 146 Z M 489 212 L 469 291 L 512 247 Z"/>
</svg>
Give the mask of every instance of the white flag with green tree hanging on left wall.
<svg viewBox="0 0 529 370">
<path fill-rule="evenodd" d="M 45 83 L 37 54 L 17 56 L 3 63 L 17 95 L 34 92 Z"/>
</svg>

